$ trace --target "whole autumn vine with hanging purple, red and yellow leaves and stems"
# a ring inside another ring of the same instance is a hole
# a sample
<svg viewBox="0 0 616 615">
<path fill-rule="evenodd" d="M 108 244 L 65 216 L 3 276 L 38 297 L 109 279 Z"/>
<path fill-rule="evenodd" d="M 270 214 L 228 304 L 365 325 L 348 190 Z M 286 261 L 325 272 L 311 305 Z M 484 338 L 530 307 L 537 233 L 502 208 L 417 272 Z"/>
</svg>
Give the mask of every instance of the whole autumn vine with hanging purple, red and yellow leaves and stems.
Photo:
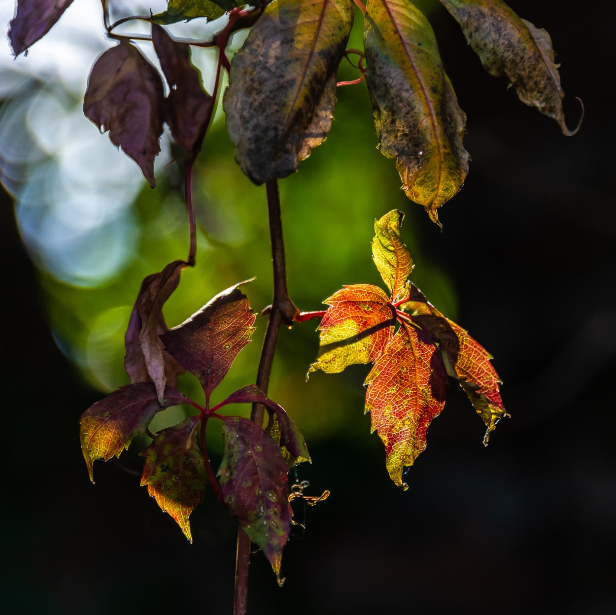
<svg viewBox="0 0 616 615">
<path fill-rule="evenodd" d="M 26 52 L 43 37 L 72 2 L 17 0 L 9 31 L 14 54 Z M 519 18 L 501 0 L 440 2 L 460 23 L 490 74 L 508 78 L 522 102 L 556 120 L 565 135 L 577 132 L 579 124 L 573 130 L 565 124 L 564 93 L 545 30 Z M 346 48 L 354 4 L 363 14 L 363 51 Z M 235 613 L 240 615 L 246 611 L 251 541 L 264 552 L 282 584 L 282 550 L 292 523 L 290 500 L 303 497 L 314 503 L 326 496 L 310 497 L 303 489 L 290 491 L 288 485 L 289 468 L 310 456 L 291 418 L 267 397 L 283 324 L 320 319 L 322 348 L 310 372 L 373 364 L 365 381 L 365 412 L 370 412 L 372 430 L 384 443 L 386 468 L 403 489 L 403 470 L 424 449 L 428 426 L 444 406 L 447 375 L 459 381 L 484 420 L 486 444 L 498 420 L 507 416 L 492 357 L 408 280 L 413 263 L 400 239 L 400 211 L 375 222 L 373 259 L 387 293 L 355 284 L 326 299 L 326 311 L 301 312 L 286 287 L 277 181 L 296 171 L 325 141 L 338 87 L 366 81 L 381 153 L 395 158 L 403 190 L 439 225 L 438 208 L 460 190 L 468 174 L 466 115 L 442 68 L 434 32 L 411 0 L 368 0 L 366 6 L 360 0 L 263 0 L 253 6 L 242 0 L 169 0 L 162 13 L 122 15 L 115 21 L 113 0 L 101 0 L 101 5 L 107 36 L 117 44 L 95 60 L 84 113 L 136 161 L 152 187 L 163 123 L 169 126 L 185 152 L 190 247 L 185 261 L 173 261 L 143 281 L 125 336 L 124 367 L 131 384 L 86 410 L 79 422 L 81 446 L 92 478 L 95 460 L 118 456 L 138 434 L 148 434 L 152 444 L 142 452 L 141 484 L 189 540 L 188 518 L 209 484 L 239 524 Z M 196 17 L 224 16 L 221 30 L 204 40 L 173 38 L 164 27 Z M 119 26 L 135 20 L 147 22 L 150 34 L 118 32 Z M 248 37 L 229 62 L 230 36 L 242 28 L 250 28 Z M 168 86 L 166 96 L 163 76 L 135 41 L 152 43 Z M 192 47 L 216 49 L 211 93 L 191 63 Z M 357 67 L 358 77 L 337 82 L 345 57 Z M 162 309 L 182 269 L 196 264 L 192 168 L 221 94 L 223 70 L 229 73 L 222 99 L 235 158 L 243 172 L 267 190 L 274 297 L 264 310 L 269 321 L 255 383 L 211 406 L 212 391 L 254 331 L 255 316 L 240 290 L 245 282 L 222 291 L 171 329 Z M 203 406 L 176 389 L 177 376 L 185 370 L 200 381 Z M 238 403 L 252 404 L 249 419 L 218 412 Z M 151 433 L 148 426 L 156 413 L 178 404 L 190 405 L 194 415 Z M 265 412 L 269 420 L 264 429 Z M 213 418 L 223 422 L 224 456 L 217 476 L 206 449 L 206 427 Z"/>
</svg>

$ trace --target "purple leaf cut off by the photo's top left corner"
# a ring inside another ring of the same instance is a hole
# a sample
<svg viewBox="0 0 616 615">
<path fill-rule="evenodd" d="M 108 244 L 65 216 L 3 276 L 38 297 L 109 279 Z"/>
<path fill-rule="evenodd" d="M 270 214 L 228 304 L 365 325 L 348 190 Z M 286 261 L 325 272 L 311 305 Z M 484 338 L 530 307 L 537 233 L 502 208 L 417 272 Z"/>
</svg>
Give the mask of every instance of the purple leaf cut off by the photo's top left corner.
<svg viewBox="0 0 616 615">
<path fill-rule="evenodd" d="M 9 40 L 19 55 L 43 38 L 73 0 L 17 0 L 17 14 L 10 22 Z"/>
</svg>

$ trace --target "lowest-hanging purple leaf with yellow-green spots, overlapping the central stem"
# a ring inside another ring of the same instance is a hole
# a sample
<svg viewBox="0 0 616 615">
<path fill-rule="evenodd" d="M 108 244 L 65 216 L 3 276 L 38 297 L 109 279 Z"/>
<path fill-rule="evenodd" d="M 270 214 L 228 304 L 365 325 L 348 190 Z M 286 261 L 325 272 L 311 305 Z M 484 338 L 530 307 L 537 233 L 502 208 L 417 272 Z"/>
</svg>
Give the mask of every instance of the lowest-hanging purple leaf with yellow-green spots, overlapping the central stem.
<svg viewBox="0 0 616 615">
<path fill-rule="evenodd" d="M 222 495 L 240 527 L 262 548 L 278 582 L 291 528 L 287 466 L 270 436 L 247 418 L 224 417 Z"/>
</svg>

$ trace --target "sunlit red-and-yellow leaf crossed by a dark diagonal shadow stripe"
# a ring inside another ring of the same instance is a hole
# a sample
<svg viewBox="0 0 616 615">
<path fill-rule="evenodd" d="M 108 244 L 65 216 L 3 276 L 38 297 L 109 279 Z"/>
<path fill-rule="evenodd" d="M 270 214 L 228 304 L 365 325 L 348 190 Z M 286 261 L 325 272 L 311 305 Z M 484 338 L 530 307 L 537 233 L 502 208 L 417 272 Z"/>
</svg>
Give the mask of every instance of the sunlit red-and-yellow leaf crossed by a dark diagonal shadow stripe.
<svg viewBox="0 0 616 615">
<path fill-rule="evenodd" d="M 318 329 L 320 354 L 310 372 L 342 372 L 383 352 L 394 333 L 395 312 L 379 287 L 354 284 L 325 299 L 328 310 Z"/>
</svg>

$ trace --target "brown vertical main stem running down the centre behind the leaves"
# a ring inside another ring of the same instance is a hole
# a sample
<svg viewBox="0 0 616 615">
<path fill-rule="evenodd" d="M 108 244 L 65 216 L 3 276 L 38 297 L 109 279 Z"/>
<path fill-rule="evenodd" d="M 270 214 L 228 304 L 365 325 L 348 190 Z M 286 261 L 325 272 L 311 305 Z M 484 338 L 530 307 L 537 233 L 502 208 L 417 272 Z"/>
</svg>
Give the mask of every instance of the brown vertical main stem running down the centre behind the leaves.
<svg viewBox="0 0 616 615">
<path fill-rule="evenodd" d="M 280 195 L 278 181 L 267 182 L 267 210 L 269 213 L 270 241 L 272 242 L 272 266 L 274 267 L 274 299 L 270 309 L 270 317 L 265 330 L 261 360 L 257 371 L 256 385 L 267 394 L 274 352 L 280 327 L 284 323 L 288 327 L 293 324 L 293 317 L 298 314 L 297 307 L 289 297 L 286 288 L 285 245 L 282 239 L 282 219 L 280 218 Z M 263 425 L 264 407 L 253 404 L 250 418 L 257 425 Z M 245 615 L 248 598 L 248 567 L 250 564 L 250 539 L 241 527 L 237 534 L 237 559 L 235 561 L 235 601 L 233 615 Z"/>
</svg>

